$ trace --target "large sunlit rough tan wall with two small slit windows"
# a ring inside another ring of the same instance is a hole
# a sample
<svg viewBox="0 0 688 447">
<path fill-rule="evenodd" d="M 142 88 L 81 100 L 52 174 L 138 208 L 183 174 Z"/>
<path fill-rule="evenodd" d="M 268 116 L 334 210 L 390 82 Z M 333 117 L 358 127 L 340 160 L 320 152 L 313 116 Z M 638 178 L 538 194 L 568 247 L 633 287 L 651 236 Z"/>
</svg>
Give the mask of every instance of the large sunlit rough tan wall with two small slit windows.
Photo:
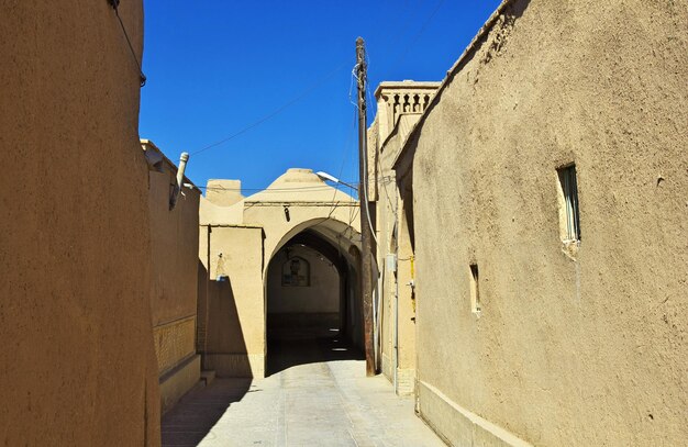
<svg viewBox="0 0 688 447">
<path fill-rule="evenodd" d="M 685 30 L 686 2 L 515 1 L 450 78 L 413 193 L 419 375 L 453 407 L 536 445 L 688 438 Z M 557 212 L 570 161 L 575 259 Z"/>
</svg>

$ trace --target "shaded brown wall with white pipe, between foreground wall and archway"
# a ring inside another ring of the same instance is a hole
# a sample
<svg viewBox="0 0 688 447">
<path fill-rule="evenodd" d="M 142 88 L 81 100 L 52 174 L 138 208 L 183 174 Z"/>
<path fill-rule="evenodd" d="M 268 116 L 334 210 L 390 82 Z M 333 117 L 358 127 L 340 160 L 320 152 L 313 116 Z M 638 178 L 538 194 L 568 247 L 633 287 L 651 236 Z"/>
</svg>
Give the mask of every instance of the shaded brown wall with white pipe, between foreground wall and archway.
<svg viewBox="0 0 688 447">
<path fill-rule="evenodd" d="M 156 150 L 147 145 L 147 150 Z M 167 159 L 148 180 L 151 213 L 151 311 L 162 385 L 162 407 L 169 410 L 200 378 L 196 354 L 199 200 L 196 188 L 182 188 L 169 209 L 177 167 Z"/>
</svg>

